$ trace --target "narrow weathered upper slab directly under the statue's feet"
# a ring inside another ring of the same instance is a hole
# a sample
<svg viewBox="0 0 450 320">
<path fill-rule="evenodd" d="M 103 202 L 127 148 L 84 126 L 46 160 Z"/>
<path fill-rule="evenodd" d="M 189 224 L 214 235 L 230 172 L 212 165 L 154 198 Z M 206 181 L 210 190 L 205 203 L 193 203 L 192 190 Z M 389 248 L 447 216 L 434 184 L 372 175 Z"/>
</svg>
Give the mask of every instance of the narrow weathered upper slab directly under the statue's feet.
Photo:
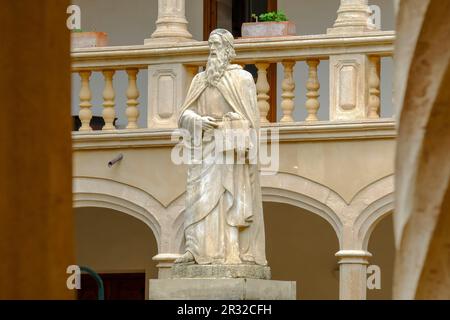
<svg viewBox="0 0 450 320">
<path fill-rule="evenodd" d="M 175 264 L 172 266 L 173 279 L 264 279 L 270 280 L 267 266 L 242 265 L 198 265 Z"/>
</svg>

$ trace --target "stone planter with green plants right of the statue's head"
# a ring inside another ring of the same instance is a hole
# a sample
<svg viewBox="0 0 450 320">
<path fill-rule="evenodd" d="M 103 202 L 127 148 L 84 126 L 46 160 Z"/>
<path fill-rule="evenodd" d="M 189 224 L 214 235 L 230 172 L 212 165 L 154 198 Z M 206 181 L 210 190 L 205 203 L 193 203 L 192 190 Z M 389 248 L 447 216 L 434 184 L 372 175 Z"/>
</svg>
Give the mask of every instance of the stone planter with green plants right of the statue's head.
<svg viewBox="0 0 450 320">
<path fill-rule="evenodd" d="M 256 16 L 256 22 L 242 24 L 243 38 L 266 38 L 295 36 L 295 23 L 289 21 L 283 11 L 273 11 Z"/>
</svg>

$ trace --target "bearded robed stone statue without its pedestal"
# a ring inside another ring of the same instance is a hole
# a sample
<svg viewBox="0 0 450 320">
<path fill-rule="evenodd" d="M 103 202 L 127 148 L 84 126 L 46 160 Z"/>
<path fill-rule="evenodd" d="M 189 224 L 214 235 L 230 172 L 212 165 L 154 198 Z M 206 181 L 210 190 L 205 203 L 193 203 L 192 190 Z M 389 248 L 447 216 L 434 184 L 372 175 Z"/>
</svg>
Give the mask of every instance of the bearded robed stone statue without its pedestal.
<svg viewBox="0 0 450 320">
<path fill-rule="evenodd" d="M 178 120 L 191 135 L 201 133 L 202 159 L 188 167 L 186 248 L 175 265 L 266 266 L 257 161 L 205 161 L 219 146 L 213 132 L 230 127 L 258 132 L 255 82 L 241 66 L 230 64 L 235 57 L 230 32 L 214 30 L 209 47 L 206 70 L 193 79 Z"/>
</svg>

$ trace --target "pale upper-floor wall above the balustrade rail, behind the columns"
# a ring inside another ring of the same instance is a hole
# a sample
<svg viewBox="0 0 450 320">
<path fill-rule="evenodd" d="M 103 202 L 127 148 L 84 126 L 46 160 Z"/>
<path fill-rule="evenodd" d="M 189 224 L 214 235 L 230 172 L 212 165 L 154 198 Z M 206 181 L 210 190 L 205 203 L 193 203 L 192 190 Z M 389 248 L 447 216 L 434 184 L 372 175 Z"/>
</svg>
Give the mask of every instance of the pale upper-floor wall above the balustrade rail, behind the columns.
<svg viewBox="0 0 450 320">
<path fill-rule="evenodd" d="M 104 31 L 110 44 L 143 44 L 155 30 L 157 0 L 72 0 L 81 7 L 82 29 Z M 392 0 L 370 0 L 382 11 L 382 29 L 393 30 L 395 14 Z M 226 1 L 221 1 L 226 6 Z M 336 19 L 339 0 L 278 0 L 278 8 L 297 25 L 299 35 L 323 34 Z M 189 31 L 196 40 L 203 39 L 203 0 L 186 0 Z"/>
</svg>

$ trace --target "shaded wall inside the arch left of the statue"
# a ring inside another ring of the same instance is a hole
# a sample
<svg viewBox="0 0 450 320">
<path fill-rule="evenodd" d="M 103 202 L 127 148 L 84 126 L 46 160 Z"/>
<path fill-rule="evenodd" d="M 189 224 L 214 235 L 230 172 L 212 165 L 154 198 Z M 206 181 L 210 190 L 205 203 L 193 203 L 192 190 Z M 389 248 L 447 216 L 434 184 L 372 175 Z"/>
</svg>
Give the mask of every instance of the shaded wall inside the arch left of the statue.
<svg viewBox="0 0 450 320">
<path fill-rule="evenodd" d="M 157 254 L 152 231 L 139 220 L 104 208 L 75 210 L 77 263 L 99 273 L 148 272 Z M 153 267 L 153 268 L 150 268 Z"/>
</svg>

